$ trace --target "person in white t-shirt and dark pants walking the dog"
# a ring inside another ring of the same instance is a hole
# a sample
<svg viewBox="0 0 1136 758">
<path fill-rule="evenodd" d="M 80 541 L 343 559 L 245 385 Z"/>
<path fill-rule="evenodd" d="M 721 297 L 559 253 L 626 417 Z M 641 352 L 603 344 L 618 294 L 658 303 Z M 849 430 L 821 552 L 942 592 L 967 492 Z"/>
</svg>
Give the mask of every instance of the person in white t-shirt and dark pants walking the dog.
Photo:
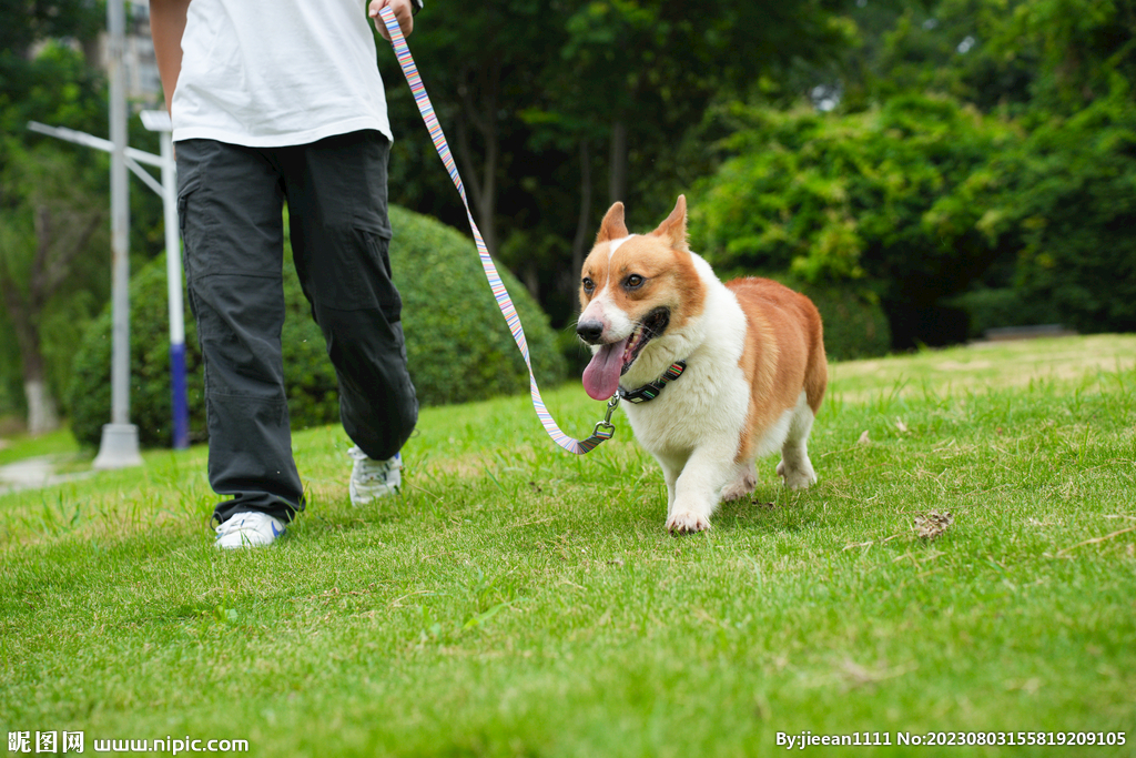
<svg viewBox="0 0 1136 758">
<path fill-rule="evenodd" d="M 387 245 L 391 127 L 367 15 L 420 0 L 151 0 L 174 125 L 190 307 L 204 365 L 219 548 L 273 543 L 304 508 L 281 330 L 283 206 L 354 442 L 351 501 L 394 493 L 418 402 Z M 386 36 L 386 30 L 378 24 Z"/>
</svg>

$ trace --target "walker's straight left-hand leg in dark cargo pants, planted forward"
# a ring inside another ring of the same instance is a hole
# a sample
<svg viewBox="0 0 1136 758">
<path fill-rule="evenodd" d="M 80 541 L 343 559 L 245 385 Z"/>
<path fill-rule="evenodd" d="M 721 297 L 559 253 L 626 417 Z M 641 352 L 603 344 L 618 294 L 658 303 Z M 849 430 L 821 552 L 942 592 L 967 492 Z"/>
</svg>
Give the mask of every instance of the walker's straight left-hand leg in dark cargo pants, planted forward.
<svg viewBox="0 0 1136 758">
<path fill-rule="evenodd" d="M 281 330 L 283 191 L 258 150 L 211 140 L 177 143 L 185 278 L 204 364 L 214 517 L 303 509 L 292 458 Z"/>
</svg>

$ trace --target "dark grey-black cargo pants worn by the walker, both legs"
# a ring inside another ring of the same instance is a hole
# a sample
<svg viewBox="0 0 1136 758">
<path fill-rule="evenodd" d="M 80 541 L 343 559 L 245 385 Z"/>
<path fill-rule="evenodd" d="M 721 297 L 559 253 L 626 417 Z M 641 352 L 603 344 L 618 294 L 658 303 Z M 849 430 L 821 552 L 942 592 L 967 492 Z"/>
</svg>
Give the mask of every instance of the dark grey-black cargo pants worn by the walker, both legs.
<svg viewBox="0 0 1136 758">
<path fill-rule="evenodd" d="M 293 260 L 327 340 L 348 436 L 382 460 L 414 430 L 418 402 L 387 257 L 389 152 L 374 131 L 284 148 L 177 142 L 209 483 L 227 497 L 214 513 L 219 522 L 249 510 L 286 522 L 304 507 L 281 357 L 285 201 Z"/>
</svg>

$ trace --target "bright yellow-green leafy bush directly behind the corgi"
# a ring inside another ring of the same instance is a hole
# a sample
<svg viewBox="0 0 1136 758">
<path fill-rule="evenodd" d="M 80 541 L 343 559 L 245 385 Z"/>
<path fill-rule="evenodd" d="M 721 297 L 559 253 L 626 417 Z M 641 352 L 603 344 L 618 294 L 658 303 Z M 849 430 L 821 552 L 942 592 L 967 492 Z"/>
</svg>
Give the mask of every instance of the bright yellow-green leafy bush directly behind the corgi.
<svg viewBox="0 0 1136 758">
<path fill-rule="evenodd" d="M 897 347 L 932 343 L 912 314 L 963 291 L 997 256 L 980 200 L 991 157 L 1018 144 L 1017 132 L 927 95 L 843 116 L 733 115 L 744 126 L 724 142 L 730 157 L 692 193 L 695 249 L 724 268 L 867 283 Z"/>
</svg>

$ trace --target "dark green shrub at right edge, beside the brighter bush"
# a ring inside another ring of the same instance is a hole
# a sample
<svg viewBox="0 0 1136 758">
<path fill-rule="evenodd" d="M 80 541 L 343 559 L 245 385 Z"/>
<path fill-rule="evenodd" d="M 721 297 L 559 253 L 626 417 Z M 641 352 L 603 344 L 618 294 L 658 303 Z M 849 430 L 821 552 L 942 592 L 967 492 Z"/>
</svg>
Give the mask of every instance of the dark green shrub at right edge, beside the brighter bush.
<svg viewBox="0 0 1136 758">
<path fill-rule="evenodd" d="M 1136 106 L 1127 85 L 1074 116 L 1038 118 L 988 173 L 976 205 L 1003 252 L 952 300 L 971 335 L 1037 324 L 1136 331 Z"/>
</svg>

